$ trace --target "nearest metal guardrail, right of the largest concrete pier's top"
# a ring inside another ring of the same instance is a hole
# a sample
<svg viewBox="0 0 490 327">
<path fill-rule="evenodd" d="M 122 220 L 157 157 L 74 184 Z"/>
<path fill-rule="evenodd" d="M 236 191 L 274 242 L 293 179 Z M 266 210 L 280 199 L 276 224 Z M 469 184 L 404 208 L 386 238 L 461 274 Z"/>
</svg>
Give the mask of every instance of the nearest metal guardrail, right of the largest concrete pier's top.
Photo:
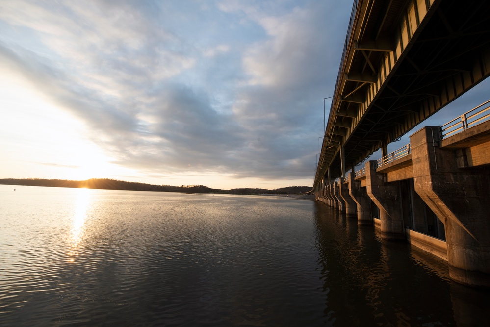
<svg viewBox="0 0 490 327">
<path fill-rule="evenodd" d="M 450 122 L 440 126 L 441 139 L 458 134 L 470 127 L 477 126 L 490 119 L 490 105 L 486 106 L 489 101 L 474 107 L 465 114 L 453 119 Z"/>
</svg>

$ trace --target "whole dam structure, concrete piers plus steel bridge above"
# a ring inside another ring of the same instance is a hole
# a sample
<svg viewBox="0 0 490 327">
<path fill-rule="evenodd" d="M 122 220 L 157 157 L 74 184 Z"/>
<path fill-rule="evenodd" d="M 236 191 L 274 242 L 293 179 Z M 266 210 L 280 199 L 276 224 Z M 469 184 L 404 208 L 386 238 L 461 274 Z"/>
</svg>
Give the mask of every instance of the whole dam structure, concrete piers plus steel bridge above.
<svg viewBox="0 0 490 327">
<path fill-rule="evenodd" d="M 355 0 L 316 200 L 447 260 L 452 280 L 490 287 L 490 101 L 387 153 L 489 75 L 490 1 Z"/>
</svg>

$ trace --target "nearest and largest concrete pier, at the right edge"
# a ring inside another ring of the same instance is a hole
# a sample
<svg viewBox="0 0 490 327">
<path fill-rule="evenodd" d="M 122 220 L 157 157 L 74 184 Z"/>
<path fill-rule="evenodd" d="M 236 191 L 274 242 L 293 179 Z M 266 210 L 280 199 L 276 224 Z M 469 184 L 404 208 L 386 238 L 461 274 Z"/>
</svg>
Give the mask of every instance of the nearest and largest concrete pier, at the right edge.
<svg viewBox="0 0 490 327">
<path fill-rule="evenodd" d="M 490 287 L 490 172 L 458 168 L 439 139 L 438 126 L 410 137 L 415 191 L 444 223 L 451 279 Z"/>
</svg>

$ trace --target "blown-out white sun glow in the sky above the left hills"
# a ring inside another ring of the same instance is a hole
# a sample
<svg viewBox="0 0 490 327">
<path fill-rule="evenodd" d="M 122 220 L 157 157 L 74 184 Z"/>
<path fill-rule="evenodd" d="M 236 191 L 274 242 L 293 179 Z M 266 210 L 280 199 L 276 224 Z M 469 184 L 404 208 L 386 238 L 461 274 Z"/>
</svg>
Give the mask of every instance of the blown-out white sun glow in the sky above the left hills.
<svg viewBox="0 0 490 327">
<path fill-rule="evenodd" d="M 0 123 L 0 136 L 15 135 L 19 141 L 15 147 L 2 145 L 13 158 L 2 163 L 7 166 L 2 171 L 31 177 L 36 166 L 42 173 L 35 177 L 85 180 L 110 177 L 117 170 L 110 163 L 113 159 L 86 137 L 90 133 L 77 117 L 48 101 L 19 74 L 5 68 L 1 73 L 10 79 L 0 80 L 0 105 L 9 108 Z"/>
</svg>

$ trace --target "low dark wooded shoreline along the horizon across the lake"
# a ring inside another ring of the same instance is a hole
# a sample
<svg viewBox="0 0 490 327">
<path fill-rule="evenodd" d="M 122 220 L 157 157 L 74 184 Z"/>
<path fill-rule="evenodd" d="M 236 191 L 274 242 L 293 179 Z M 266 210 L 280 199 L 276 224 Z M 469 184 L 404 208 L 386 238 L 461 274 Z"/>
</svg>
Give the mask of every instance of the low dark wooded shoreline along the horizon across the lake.
<svg viewBox="0 0 490 327">
<path fill-rule="evenodd" d="M 221 190 L 209 188 L 203 185 L 152 185 L 144 183 L 126 182 L 116 179 L 92 178 L 87 180 L 63 180 L 63 179 L 39 179 L 26 178 L 0 179 L 3 185 L 23 185 L 23 186 L 48 186 L 48 187 L 71 187 L 71 188 L 92 188 L 101 190 L 127 190 L 127 191 L 154 191 L 154 192 L 181 192 L 181 193 L 218 193 L 218 194 L 283 194 L 297 195 L 304 194 L 311 190 L 311 186 L 289 186 L 275 190 L 262 188 L 235 188 L 231 190 Z"/>
</svg>

